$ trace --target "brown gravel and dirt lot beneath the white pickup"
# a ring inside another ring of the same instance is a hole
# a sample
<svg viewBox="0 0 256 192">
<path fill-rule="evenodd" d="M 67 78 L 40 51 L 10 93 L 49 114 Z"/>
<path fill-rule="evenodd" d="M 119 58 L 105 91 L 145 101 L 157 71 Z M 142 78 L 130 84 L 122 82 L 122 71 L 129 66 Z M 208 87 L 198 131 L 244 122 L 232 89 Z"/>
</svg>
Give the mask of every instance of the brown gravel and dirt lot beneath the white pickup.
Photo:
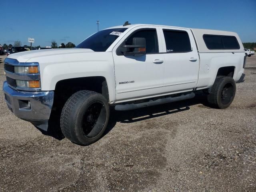
<svg viewBox="0 0 256 192">
<path fill-rule="evenodd" d="M 256 56 L 245 73 L 226 110 L 198 95 L 112 111 L 106 135 L 90 146 L 16 118 L 1 89 L 0 191 L 256 191 Z"/>
</svg>

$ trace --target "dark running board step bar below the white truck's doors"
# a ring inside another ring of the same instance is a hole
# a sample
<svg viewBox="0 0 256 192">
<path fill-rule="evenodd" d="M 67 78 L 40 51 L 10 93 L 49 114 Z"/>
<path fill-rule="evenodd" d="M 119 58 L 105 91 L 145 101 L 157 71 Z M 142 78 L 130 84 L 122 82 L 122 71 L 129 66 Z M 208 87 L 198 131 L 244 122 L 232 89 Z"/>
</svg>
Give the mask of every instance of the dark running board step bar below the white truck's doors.
<svg viewBox="0 0 256 192">
<path fill-rule="evenodd" d="M 191 92 L 186 95 L 180 95 L 177 97 L 167 97 L 167 98 L 162 98 L 158 100 L 150 100 L 148 102 L 144 103 L 137 103 L 137 104 L 124 104 L 124 105 L 116 105 L 115 110 L 117 111 L 126 111 L 126 110 L 133 110 L 133 109 L 138 109 L 138 108 L 143 108 L 143 107 L 149 107 L 149 106 L 154 106 L 154 105 L 160 105 L 160 104 L 165 104 L 165 103 L 170 103 L 170 102 L 176 102 L 180 100 L 185 100 L 185 99 L 191 99 L 195 96 L 196 94 L 194 92 Z"/>
</svg>

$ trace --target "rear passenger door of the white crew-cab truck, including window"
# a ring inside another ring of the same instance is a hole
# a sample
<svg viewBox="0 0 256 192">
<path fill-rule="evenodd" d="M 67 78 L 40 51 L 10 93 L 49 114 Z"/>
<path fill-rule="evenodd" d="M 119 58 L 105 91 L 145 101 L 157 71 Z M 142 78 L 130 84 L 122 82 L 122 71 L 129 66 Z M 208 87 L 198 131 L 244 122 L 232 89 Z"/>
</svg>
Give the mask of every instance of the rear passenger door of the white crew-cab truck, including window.
<svg viewBox="0 0 256 192">
<path fill-rule="evenodd" d="M 192 32 L 183 28 L 162 27 L 164 47 L 164 92 L 192 90 L 196 86 L 199 56 Z"/>
</svg>

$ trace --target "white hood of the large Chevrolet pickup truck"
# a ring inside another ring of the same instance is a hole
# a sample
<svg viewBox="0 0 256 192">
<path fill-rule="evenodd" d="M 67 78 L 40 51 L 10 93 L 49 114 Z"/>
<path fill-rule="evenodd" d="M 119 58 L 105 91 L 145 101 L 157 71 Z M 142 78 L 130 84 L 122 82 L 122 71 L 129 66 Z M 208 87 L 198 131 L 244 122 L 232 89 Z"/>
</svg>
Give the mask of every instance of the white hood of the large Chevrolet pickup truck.
<svg viewBox="0 0 256 192">
<path fill-rule="evenodd" d="M 62 55 L 62 54 L 74 54 L 74 53 L 87 53 L 87 52 L 94 52 L 94 51 L 91 49 L 83 49 L 83 48 L 44 49 L 44 50 L 24 51 L 24 52 L 10 54 L 8 58 L 16 59 L 19 62 L 27 62 L 29 59 L 36 58 L 36 57 Z"/>
</svg>

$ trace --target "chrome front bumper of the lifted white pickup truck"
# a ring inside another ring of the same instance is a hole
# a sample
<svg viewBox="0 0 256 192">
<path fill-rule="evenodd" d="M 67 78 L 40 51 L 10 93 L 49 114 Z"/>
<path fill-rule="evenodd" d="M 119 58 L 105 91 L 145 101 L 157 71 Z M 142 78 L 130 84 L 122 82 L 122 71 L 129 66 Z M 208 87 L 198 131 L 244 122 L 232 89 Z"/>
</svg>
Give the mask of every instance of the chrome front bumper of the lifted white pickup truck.
<svg viewBox="0 0 256 192">
<path fill-rule="evenodd" d="M 6 104 L 14 115 L 47 130 L 54 99 L 53 91 L 18 91 L 10 88 L 7 82 L 4 82 L 3 90 Z"/>
</svg>

